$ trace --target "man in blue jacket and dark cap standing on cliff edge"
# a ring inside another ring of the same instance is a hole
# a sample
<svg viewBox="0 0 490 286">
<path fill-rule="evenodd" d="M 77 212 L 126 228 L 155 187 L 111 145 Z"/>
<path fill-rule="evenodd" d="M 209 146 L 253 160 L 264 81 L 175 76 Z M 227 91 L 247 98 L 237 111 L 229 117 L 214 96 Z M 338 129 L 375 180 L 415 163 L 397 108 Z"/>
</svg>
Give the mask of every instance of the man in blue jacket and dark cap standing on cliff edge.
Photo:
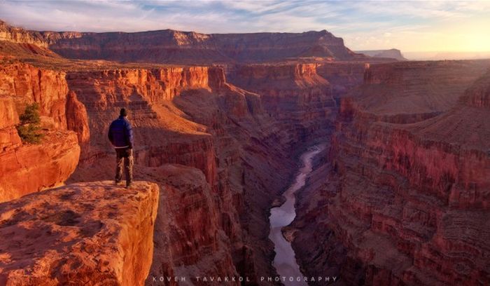
<svg viewBox="0 0 490 286">
<path fill-rule="evenodd" d="M 123 179 L 123 161 L 126 171 L 126 187 L 130 188 L 133 179 L 133 129 L 126 118 L 126 109 L 109 126 L 109 140 L 116 149 L 116 184 Z"/>
</svg>

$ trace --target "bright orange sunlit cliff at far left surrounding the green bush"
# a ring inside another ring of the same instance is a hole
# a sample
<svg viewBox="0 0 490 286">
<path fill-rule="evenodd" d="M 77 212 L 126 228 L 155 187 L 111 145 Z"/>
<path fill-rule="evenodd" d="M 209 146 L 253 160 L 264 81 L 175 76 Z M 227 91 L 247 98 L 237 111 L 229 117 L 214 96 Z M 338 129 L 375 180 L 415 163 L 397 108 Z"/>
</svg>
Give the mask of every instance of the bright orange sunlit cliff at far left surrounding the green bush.
<svg viewBox="0 0 490 286">
<path fill-rule="evenodd" d="M 0 201 L 6 201 L 62 184 L 71 175 L 80 147 L 71 131 L 76 129 L 68 123 L 83 124 L 85 108 L 75 95 L 66 97 L 68 86 L 62 72 L 8 64 L 0 68 L 0 79 Z M 39 106 L 44 137 L 41 144 L 26 144 L 15 126 L 27 104 L 34 102 Z M 89 136 L 86 129 L 76 131 L 81 131 L 80 142 Z"/>
</svg>

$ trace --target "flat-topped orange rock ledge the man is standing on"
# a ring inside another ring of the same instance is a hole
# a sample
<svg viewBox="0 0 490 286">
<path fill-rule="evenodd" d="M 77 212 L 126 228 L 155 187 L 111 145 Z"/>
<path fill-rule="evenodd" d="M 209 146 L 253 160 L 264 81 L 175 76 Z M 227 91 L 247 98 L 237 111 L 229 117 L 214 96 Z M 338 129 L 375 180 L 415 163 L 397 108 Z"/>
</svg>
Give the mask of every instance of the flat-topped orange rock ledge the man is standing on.
<svg viewBox="0 0 490 286">
<path fill-rule="evenodd" d="M 0 204 L 1 285 L 143 285 L 156 184 L 71 184 Z"/>
</svg>

